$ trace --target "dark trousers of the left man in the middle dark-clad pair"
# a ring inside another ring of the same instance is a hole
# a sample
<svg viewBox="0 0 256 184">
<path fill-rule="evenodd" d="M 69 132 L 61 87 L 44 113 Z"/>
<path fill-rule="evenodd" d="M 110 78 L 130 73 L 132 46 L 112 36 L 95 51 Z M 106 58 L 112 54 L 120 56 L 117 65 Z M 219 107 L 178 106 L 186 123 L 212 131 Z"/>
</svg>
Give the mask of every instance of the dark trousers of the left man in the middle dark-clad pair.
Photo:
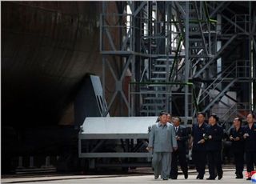
<svg viewBox="0 0 256 184">
<path fill-rule="evenodd" d="M 203 178 L 206 173 L 206 151 L 192 150 L 192 159 L 198 176 Z"/>
</svg>

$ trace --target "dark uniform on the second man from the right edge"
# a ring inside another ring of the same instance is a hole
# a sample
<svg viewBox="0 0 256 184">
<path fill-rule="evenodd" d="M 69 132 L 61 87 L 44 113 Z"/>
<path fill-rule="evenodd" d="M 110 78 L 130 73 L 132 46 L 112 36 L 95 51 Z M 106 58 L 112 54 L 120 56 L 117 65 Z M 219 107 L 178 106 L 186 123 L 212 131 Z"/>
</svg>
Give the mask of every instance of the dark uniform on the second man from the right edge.
<svg viewBox="0 0 256 184">
<path fill-rule="evenodd" d="M 238 141 L 230 140 L 232 142 L 232 152 L 234 154 L 234 164 L 235 164 L 235 174 L 238 178 L 243 178 L 243 163 L 244 163 L 244 139 L 243 139 L 244 129 L 240 127 L 238 130 L 236 128 L 230 129 L 230 136 L 233 138 L 239 138 Z"/>
</svg>

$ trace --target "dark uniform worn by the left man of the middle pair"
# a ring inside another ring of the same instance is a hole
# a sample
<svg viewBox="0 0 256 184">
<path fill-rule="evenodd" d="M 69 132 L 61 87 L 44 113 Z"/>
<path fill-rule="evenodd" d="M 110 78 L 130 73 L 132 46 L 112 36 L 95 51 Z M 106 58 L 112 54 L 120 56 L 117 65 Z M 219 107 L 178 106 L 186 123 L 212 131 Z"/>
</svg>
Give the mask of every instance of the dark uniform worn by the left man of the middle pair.
<svg viewBox="0 0 256 184">
<path fill-rule="evenodd" d="M 198 178 L 203 178 L 206 170 L 206 143 L 198 142 L 203 139 L 203 134 L 206 134 L 208 125 L 206 122 L 201 126 L 194 124 L 192 126 L 191 136 L 193 137 L 192 159 L 196 170 L 198 171 Z"/>
</svg>

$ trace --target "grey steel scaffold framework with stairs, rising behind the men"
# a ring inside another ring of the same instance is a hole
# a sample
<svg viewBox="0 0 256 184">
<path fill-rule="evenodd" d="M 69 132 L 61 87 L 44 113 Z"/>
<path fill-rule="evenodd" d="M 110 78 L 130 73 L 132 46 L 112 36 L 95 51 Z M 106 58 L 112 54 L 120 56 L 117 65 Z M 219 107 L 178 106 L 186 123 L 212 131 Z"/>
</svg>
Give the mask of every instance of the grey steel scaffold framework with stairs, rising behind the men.
<svg viewBox="0 0 256 184">
<path fill-rule="evenodd" d="M 103 95 L 106 69 L 115 81 L 105 114 L 115 99 L 129 116 L 166 110 L 185 123 L 198 110 L 228 121 L 255 109 L 254 2 L 122 2 L 118 14 L 107 14 L 110 2 L 102 3 Z M 244 7 L 235 13 L 235 6 Z"/>
</svg>

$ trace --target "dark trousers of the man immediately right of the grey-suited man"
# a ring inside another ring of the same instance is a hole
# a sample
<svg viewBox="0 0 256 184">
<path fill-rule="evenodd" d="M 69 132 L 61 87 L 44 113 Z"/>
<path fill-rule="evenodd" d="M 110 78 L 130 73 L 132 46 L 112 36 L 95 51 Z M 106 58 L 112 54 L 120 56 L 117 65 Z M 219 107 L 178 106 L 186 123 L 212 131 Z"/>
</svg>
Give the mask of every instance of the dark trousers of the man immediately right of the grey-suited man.
<svg viewBox="0 0 256 184">
<path fill-rule="evenodd" d="M 186 150 L 176 150 L 172 154 L 170 178 L 178 177 L 178 162 L 181 166 L 183 174 L 187 174 Z"/>
</svg>

